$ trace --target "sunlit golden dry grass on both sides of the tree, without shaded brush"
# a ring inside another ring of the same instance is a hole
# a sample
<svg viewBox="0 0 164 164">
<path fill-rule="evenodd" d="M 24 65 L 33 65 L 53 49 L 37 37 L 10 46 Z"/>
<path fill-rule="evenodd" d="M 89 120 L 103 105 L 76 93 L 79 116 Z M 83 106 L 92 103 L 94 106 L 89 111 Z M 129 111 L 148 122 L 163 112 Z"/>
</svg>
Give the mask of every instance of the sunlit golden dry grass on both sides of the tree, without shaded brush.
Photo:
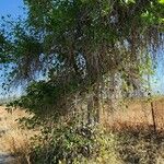
<svg viewBox="0 0 164 164">
<path fill-rule="evenodd" d="M 164 130 L 164 98 L 156 98 L 153 102 L 157 130 Z M 127 107 L 126 107 L 127 106 Z M 30 164 L 30 138 L 36 134 L 35 131 L 19 128 L 15 119 L 28 116 L 23 110 L 14 110 L 12 114 L 0 107 L 0 151 L 8 152 L 15 156 L 16 164 Z M 121 105 L 121 109 L 110 115 L 103 114 L 102 120 L 106 127 L 114 130 L 125 131 L 138 129 L 147 132 L 152 128 L 151 105 L 144 101 L 128 102 Z M 143 134 L 144 136 L 144 134 Z M 130 137 L 131 138 L 131 137 Z M 155 144 L 156 145 L 156 144 Z M 125 148 L 125 143 L 122 145 Z"/>
</svg>

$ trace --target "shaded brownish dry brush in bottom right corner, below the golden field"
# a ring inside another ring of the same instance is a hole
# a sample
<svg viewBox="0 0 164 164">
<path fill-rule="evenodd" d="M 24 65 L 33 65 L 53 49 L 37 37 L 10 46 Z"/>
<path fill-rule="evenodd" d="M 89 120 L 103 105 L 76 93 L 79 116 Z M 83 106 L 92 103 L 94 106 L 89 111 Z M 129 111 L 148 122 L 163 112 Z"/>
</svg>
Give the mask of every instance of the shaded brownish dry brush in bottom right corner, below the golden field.
<svg viewBox="0 0 164 164">
<path fill-rule="evenodd" d="M 126 164 L 164 164 L 164 131 L 152 126 L 125 126 L 117 134 L 116 151 Z"/>
</svg>

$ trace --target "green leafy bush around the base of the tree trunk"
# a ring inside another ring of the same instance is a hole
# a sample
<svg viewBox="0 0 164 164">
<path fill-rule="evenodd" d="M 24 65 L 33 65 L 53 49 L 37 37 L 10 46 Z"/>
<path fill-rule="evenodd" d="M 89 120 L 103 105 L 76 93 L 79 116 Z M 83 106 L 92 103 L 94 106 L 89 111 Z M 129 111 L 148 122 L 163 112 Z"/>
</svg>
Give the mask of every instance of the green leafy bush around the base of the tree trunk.
<svg viewBox="0 0 164 164">
<path fill-rule="evenodd" d="M 31 161 L 35 164 L 118 163 L 115 136 L 91 126 L 44 128 L 32 145 Z"/>
</svg>

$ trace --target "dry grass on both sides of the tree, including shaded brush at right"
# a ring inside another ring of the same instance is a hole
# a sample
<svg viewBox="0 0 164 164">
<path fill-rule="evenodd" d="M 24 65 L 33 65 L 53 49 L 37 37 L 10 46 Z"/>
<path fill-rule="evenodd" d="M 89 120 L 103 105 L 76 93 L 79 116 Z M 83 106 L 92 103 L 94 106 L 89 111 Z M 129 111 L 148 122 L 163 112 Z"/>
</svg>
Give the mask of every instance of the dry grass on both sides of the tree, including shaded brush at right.
<svg viewBox="0 0 164 164">
<path fill-rule="evenodd" d="M 153 108 L 157 136 L 150 102 L 129 101 L 119 110 L 102 115 L 103 124 L 116 136 L 122 164 L 164 164 L 164 97 L 155 98 Z M 8 113 L 0 107 L 0 151 L 14 155 L 16 164 L 30 164 L 30 138 L 36 133 L 19 127 L 15 120 L 23 116 L 27 116 L 23 110 Z"/>
</svg>

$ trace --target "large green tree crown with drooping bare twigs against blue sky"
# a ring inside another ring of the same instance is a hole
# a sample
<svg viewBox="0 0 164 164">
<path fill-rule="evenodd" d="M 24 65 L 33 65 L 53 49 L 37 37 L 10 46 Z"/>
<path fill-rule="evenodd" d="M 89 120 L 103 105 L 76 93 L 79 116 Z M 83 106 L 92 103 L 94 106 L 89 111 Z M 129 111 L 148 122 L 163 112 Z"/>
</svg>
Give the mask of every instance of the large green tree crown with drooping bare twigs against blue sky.
<svg viewBox="0 0 164 164">
<path fill-rule="evenodd" d="M 153 63 L 154 51 L 163 45 L 162 0 L 24 2 L 27 20 L 12 23 L 11 38 L 2 34 L 2 44 L 12 47 L 1 50 L 1 60 L 4 56 L 9 65 L 14 63 L 12 79 L 46 74 L 43 83 L 58 91 L 54 97 L 58 97 L 57 104 L 62 102 L 59 108 L 68 108 L 75 94 L 84 93 L 90 102 L 87 114 L 92 113 L 95 121 L 99 119 L 99 101 L 108 94 L 102 94 L 105 85 L 113 90 L 115 84 L 109 81 L 119 77 L 126 92 L 129 87 L 139 90 L 138 79 L 152 67 L 145 62 Z"/>
</svg>

